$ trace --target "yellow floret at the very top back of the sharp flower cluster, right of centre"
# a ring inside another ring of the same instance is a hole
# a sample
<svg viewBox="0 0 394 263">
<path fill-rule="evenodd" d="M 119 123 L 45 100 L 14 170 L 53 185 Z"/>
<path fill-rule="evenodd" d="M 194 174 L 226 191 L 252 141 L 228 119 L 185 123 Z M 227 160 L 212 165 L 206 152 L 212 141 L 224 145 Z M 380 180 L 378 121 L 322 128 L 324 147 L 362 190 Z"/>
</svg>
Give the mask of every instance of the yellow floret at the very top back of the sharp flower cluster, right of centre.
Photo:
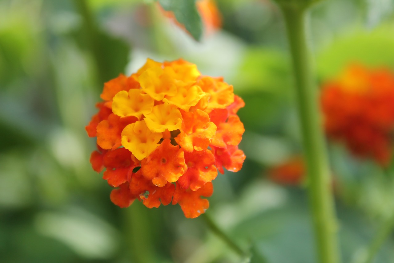
<svg viewBox="0 0 394 263">
<path fill-rule="evenodd" d="M 182 81 L 185 85 L 194 83 L 201 75 L 200 71 L 197 70 L 197 66 L 185 60 L 178 59 L 174 61 L 165 61 L 163 63 L 165 67 L 171 67 L 175 73 L 175 79 Z"/>
</svg>

